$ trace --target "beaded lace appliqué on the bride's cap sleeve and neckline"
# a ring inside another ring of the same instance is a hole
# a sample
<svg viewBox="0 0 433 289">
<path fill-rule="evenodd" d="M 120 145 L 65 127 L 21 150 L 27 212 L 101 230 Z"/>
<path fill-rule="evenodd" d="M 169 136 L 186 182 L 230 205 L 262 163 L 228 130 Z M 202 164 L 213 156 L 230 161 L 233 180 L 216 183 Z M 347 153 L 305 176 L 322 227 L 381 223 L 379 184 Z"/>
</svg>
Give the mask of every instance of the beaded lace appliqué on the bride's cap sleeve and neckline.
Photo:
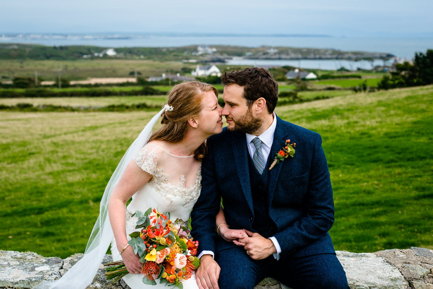
<svg viewBox="0 0 433 289">
<path fill-rule="evenodd" d="M 150 153 L 147 153 L 147 149 L 142 149 L 134 157 L 136 164 L 153 176 L 153 180 L 147 182 L 149 186 L 155 188 L 171 204 L 173 203 L 173 197 L 184 199 L 183 206 L 199 197 L 201 190 L 201 169 L 197 172 L 195 184 L 188 188 L 183 188 L 185 183 L 184 175 L 181 175 L 178 185 L 171 185 L 170 182 L 167 182 L 170 179 L 170 175 L 164 173 L 164 168 L 156 168 L 157 163 L 154 162 L 155 158 L 158 158 L 155 151 L 152 150 Z"/>
</svg>

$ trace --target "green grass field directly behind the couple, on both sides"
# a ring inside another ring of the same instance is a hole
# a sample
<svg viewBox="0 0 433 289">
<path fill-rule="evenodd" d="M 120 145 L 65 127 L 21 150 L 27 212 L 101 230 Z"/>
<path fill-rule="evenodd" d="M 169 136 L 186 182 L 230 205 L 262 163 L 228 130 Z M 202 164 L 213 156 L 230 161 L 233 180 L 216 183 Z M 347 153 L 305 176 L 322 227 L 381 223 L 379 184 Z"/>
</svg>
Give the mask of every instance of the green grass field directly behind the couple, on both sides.
<svg viewBox="0 0 433 289">
<path fill-rule="evenodd" d="M 433 86 L 344 93 L 276 109 L 322 135 L 336 250 L 433 248 Z M 120 101 L 89 98 L 73 101 Z M 153 114 L 1 112 L 0 249 L 83 252 L 111 173 Z"/>
</svg>

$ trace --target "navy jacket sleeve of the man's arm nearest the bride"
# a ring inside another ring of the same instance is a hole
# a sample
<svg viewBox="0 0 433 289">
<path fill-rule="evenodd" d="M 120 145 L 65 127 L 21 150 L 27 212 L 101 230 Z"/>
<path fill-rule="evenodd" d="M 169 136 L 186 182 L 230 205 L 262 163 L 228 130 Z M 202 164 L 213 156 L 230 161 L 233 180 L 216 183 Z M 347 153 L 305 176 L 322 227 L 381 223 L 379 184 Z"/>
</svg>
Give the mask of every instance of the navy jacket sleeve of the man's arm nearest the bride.
<svg viewBox="0 0 433 289">
<path fill-rule="evenodd" d="M 200 197 L 191 211 L 191 236 L 199 241 L 197 256 L 202 251 L 215 253 L 215 217 L 220 210 L 221 197 L 216 184 L 212 144 L 208 140 L 208 153 L 201 164 L 202 187 Z"/>
</svg>

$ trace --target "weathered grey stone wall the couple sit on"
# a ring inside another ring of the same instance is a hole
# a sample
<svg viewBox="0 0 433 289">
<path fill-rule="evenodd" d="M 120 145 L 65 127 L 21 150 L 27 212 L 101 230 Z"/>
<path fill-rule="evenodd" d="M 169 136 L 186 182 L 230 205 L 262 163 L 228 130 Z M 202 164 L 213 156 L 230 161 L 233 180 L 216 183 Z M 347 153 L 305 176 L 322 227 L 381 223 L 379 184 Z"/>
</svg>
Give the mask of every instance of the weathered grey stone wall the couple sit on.
<svg viewBox="0 0 433 289">
<path fill-rule="evenodd" d="M 375 253 L 337 251 L 337 257 L 346 271 L 351 289 L 433 289 L 433 250 L 384 250 Z M 0 288 L 26 289 L 42 280 L 63 276 L 83 254 L 74 254 L 64 260 L 43 257 L 33 252 L 0 250 Z M 106 255 L 103 263 L 111 261 Z M 129 289 L 123 280 L 110 284 L 104 277 L 101 264 L 93 283 L 87 289 Z M 255 289 L 289 289 L 275 279 L 266 278 Z"/>
</svg>

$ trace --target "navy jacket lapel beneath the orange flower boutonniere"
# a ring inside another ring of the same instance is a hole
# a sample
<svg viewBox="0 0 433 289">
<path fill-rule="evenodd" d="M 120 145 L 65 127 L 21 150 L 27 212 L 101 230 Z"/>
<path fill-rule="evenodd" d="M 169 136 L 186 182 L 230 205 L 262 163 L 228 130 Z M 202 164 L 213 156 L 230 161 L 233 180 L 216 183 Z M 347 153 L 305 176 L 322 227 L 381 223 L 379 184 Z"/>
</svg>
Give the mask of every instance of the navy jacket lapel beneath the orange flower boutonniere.
<svg viewBox="0 0 433 289">
<path fill-rule="evenodd" d="M 272 142 L 271 152 L 269 153 L 269 161 L 266 165 L 267 169 L 271 166 L 274 161 L 275 153 L 284 146 L 286 137 L 288 136 L 288 131 L 284 131 L 283 121 L 277 117 L 277 126 L 275 127 L 274 140 Z M 269 183 L 268 183 L 268 204 L 271 205 L 272 199 L 274 198 L 275 187 L 277 186 L 278 176 L 280 175 L 281 166 L 284 162 L 288 162 L 289 159 L 284 159 L 283 162 L 276 164 L 269 171 Z"/>
</svg>

